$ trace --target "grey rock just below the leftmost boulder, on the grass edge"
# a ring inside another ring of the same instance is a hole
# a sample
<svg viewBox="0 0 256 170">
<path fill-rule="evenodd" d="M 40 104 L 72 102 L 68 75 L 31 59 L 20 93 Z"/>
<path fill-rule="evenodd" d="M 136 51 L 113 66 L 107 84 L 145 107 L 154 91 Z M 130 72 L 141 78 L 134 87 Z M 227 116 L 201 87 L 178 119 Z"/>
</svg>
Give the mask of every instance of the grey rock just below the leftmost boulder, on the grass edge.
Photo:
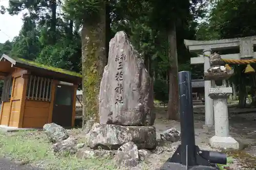
<svg viewBox="0 0 256 170">
<path fill-rule="evenodd" d="M 58 141 L 52 145 L 52 149 L 55 153 L 76 153 L 76 140 L 72 137 L 69 137 L 66 140 Z"/>
</svg>

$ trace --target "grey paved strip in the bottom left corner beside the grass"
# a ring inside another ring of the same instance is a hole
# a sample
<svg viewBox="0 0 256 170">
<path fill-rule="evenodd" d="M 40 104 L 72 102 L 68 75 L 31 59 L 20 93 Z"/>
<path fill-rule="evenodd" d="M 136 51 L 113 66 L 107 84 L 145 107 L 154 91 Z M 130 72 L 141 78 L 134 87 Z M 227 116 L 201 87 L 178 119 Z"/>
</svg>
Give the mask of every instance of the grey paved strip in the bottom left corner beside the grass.
<svg viewBox="0 0 256 170">
<path fill-rule="evenodd" d="M 14 161 L 10 161 L 6 158 L 0 158 L 0 170 L 44 170 L 44 169 L 31 167 L 28 165 L 19 165 Z"/>
</svg>

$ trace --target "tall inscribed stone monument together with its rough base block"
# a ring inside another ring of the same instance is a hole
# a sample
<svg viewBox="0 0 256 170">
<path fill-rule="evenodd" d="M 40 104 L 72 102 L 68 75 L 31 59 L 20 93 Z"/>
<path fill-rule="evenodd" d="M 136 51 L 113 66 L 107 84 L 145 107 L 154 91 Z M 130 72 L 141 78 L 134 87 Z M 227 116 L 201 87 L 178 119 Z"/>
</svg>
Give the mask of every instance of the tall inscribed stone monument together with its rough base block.
<svg viewBox="0 0 256 170">
<path fill-rule="evenodd" d="M 153 82 L 124 32 L 110 41 L 108 65 L 104 68 L 99 94 L 99 119 L 89 132 L 93 149 L 117 149 L 127 142 L 138 148 L 156 145 Z"/>
</svg>

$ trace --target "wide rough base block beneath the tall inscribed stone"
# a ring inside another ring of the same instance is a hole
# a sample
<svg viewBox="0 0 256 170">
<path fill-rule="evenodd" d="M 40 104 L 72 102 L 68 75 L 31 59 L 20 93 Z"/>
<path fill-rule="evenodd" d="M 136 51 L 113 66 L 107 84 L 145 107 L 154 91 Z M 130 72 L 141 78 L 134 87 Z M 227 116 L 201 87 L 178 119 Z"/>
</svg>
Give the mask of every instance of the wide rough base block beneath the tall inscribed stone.
<svg viewBox="0 0 256 170">
<path fill-rule="evenodd" d="M 156 146 L 156 129 L 152 126 L 120 126 L 94 124 L 86 135 L 92 149 L 101 147 L 105 150 L 118 149 L 127 142 L 134 142 L 139 149 L 154 149 Z"/>
</svg>

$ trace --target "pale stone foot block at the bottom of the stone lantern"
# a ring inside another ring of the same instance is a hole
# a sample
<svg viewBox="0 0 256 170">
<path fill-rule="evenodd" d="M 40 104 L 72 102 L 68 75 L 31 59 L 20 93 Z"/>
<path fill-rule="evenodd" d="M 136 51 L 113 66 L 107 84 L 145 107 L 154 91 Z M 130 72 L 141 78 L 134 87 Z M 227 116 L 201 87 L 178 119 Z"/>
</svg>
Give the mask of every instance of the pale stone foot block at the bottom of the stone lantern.
<svg viewBox="0 0 256 170">
<path fill-rule="evenodd" d="M 229 137 L 220 137 L 220 136 L 213 136 L 210 138 L 210 146 L 213 148 L 222 148 L 222 149 L 234 149 L 239 150 L 239 142 Z"/>
</svg>

